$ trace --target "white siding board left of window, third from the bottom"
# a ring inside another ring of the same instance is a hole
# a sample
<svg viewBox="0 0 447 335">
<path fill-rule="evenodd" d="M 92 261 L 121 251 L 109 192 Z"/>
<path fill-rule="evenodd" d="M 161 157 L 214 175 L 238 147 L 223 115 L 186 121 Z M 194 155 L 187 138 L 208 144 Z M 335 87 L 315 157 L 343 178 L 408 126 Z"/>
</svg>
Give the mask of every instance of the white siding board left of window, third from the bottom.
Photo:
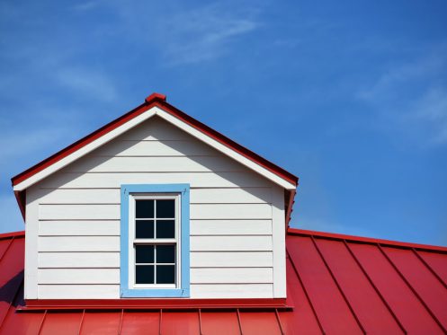
<svg viewBox="0 0 447 335">
<path fill-rule="evenodd" d="M 40 252 L 40 269 L 120 268 L 120 252 Z"/>
</svg>

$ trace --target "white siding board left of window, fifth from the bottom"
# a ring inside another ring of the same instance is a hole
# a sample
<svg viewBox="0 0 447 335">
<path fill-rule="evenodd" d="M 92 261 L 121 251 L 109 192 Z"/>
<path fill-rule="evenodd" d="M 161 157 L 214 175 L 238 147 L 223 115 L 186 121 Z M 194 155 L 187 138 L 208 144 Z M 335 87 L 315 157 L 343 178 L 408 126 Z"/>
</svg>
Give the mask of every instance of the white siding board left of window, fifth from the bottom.
<svg viewBox="0 0 447 335">
<path fill-rule="evenodd" d="M 40 221 L 40 236 L 119 236 L 120 221 Z"/>
</svg>

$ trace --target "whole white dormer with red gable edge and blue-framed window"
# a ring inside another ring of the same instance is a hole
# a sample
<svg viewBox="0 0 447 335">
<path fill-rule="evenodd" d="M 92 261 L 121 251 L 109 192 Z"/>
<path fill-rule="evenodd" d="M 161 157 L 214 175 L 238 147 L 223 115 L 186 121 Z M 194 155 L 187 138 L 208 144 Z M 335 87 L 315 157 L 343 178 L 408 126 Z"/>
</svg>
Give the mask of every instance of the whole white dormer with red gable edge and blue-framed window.
<svg viewBox="0 0 447 335">
<path fill-rule="evenodd" d="M 24 298 L 283 301 L 297 182 L 154 93 L 13 177 Z"/>
</svg>

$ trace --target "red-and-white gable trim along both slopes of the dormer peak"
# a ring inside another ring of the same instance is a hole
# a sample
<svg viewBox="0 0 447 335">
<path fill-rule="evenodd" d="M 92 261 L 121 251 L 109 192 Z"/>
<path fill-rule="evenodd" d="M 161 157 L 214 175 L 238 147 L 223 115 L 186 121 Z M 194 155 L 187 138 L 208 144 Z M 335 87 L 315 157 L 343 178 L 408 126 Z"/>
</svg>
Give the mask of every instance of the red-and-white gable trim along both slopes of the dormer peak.
<svg viewBox="0 0 447 335">
<path fill-rule="evenodd" d="M 290 172 L 265 160 L 244 146 L 238 145 L 228 137 L 224 137 L 219 132 L 191 118 L 183 113 L 183 111 L 175 109 L 165 102 L 165 95 L 153 93 L 146 98 L 145 103 L 136 109 L 130 110 L 130 112 L 124 114 L 121 118 L 113 120 L 103 126 L 103 128 L 99 128 L 94 133 L 67 146 L 57 154 L 53 154 L 46 160 L 13 177 L 13 190 L 22 191 L 29 188 L 51 173 L 57 172 L 67 166 L 67 164 L 74 162 L 95 148 L 104 145 L 156 114 L 162 119 L 174 124 L 174 126 L 182 128 L 193 137 L 211 145 L 221 153 L 237 160 L 237 162 L 244 164 L 251 170 L 260 173 L 265 178 L 282 186 L 282 188 L 286 190 L 296 189 L 298 178 Z"/>
</svg>

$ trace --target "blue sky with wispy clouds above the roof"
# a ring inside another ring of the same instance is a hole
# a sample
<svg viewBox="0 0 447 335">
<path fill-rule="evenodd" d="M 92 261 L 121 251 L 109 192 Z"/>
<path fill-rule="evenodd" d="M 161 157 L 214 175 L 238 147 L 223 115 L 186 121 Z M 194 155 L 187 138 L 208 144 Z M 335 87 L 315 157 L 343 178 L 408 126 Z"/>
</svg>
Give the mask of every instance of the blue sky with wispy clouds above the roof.
<svg viewBox="0 0 447 335">
<path fill-rule="evenodd" d="M 152 92 L 300 178 L 292 225 L 447 245 L 447 3 L 0 1 L 10 178 Z"/>
</svg>

